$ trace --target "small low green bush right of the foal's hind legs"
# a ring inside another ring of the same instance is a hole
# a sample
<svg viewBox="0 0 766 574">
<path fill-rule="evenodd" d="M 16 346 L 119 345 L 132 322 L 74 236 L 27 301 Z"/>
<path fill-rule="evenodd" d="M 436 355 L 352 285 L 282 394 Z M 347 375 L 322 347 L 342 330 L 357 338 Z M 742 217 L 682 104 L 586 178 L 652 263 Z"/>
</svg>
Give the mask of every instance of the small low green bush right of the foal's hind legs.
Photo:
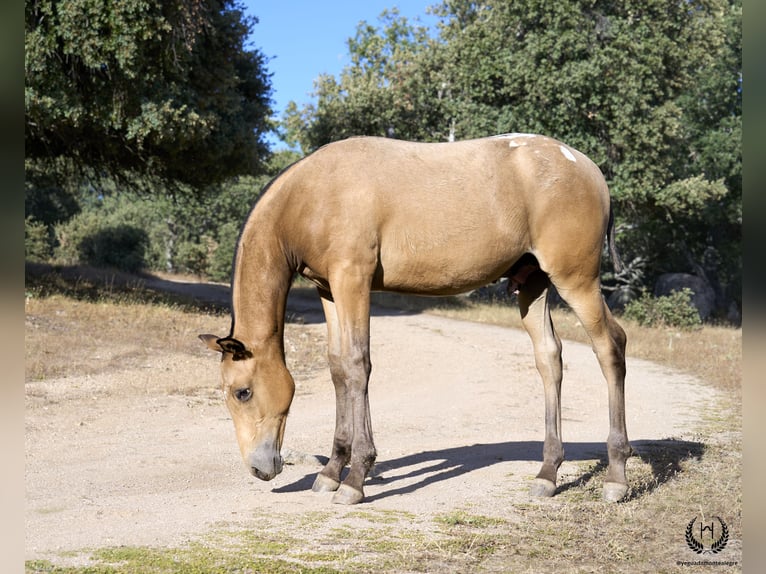
<svg viewBox="0 0 766 574">
<path fill-rule="evenodd" d="M 695 329 L 702 325 L 688 287 L 663 297 L 654 297 L 644 291 L 641 297 L 625 306 L 623 316 L 646 327 Z"/>
</svg>

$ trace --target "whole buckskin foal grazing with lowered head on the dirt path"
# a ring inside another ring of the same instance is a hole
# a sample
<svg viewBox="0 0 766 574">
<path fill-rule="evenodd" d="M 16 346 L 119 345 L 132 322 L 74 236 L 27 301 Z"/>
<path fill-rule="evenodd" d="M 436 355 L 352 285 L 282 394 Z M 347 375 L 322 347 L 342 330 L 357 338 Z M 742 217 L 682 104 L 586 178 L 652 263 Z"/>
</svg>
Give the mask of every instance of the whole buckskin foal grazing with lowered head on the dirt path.
<svg viewBox="0 0 766 574">
<path fill-rule="evenodd" d="M 603 496 L 623 499 L 632 452 L 625 428 L 626 336 L 604 302 L 599 277 L 605 240 L 618 265 L 613 230 L 599 168 L 541 135 L 450 143 L 354 137 L 294 163 L 266 187 L 242 227 L 229 335 L 200 335 L 222 353 L 223 394 L 246 465 L 263 480 L 282 470 L 295 388 L 283 334 L 295 273 L 317 287 L 336 396 L 331 456 L 312 489 L 334 491 L 332 501 L 340 504 L 364 499 L 376 457 L 367 392 L 371 291 L 452 295 L 508 277 L 545 396 L 543 462 L 531 494 L 554 495 L 564 459 L 552 284 L 587 331 L 607 382 Z"/>
</svg>

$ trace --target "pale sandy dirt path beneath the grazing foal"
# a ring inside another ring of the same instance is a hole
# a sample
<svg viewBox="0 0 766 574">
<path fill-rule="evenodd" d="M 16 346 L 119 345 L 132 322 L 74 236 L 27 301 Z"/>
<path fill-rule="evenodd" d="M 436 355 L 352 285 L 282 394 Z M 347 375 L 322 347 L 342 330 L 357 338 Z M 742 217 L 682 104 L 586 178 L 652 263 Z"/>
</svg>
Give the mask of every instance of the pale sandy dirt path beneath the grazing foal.
<svg viewBox="0 0 766 574">
<path fill-rule="evenodd" d="M 324 338 L 315 307 L 297 305 L 293 311 L 306 318 L 299 336 Z M 287 352 L 289 361 L 289 345 Z M 526 334 L 379 310 L 372 363 L 378 464 L 360 507 L 424 521 L 460 509 L 512 518 L 514 504 L 528 500 L 542 452 L 542 385 Z M 564 363 L 567 460 L 559 485 L 566 489 L 582 484 L 586 463 L 605 456 L 608 418 L 590 348 L 565 341 Z M 170 546 L 222 525 L 253 527 L 264 517 L 312 511 L 326 513 L 328 528 L 351 519 L 360 507 L 332 505 L 330 495 L 310 491 L 332 442 L 327 370 L 296 376 L 289 464 L 268 483 L 241 462 L 218 380 L 216 355 L 201 348 L 197 355 L 158 352 L 126 370 L 28 383 L 26 558 Z M 663 439 L 693 440 L 704 407 L 716 401 L 693 378 L 641 360 L 628 361 L 626 394 L 628 433 L 639 452 Z"/>
</svg>

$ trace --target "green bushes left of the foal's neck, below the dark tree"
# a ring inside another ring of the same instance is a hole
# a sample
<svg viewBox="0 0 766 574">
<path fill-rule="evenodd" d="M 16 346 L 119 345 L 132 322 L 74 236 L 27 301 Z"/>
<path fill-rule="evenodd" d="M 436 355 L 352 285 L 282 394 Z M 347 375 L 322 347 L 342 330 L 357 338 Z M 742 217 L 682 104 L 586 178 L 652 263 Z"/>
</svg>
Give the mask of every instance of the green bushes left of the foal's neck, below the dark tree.
<svg viewBox="0 0 766 574">
<path fill-rule="evenodd" d="M 168 194 L 85 188 L 79 198 L 82 211 L 53 228 L 53 260 L 228 281 L 239 229 L 265 182 L 265 177 L 243 177 L 175 200 Z"/>
</svg>

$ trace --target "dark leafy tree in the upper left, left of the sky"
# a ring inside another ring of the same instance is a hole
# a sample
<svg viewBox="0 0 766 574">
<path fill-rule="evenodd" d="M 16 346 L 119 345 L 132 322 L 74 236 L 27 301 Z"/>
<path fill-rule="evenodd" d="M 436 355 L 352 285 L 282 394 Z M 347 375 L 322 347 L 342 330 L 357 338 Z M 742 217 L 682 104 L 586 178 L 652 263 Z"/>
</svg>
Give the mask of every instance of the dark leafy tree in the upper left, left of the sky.
<svg viewBox="0 0 766 574">
<path fill-rule="evenodd" d="M 271 129 L 256 21 L 237 0 L 26 0 L 28 180 L 256 173 Z"/>
</svg>

